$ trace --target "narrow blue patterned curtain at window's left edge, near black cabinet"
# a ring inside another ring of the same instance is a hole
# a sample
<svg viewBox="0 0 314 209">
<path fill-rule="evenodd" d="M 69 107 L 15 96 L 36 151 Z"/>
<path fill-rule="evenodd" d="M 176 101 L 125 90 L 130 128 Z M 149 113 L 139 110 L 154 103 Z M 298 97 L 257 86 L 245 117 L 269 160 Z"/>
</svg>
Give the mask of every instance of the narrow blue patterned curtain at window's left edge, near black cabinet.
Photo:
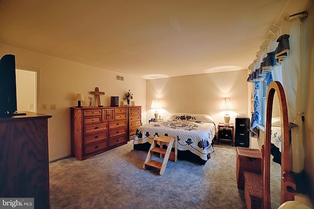
<svg viewBox="0 0 314 209">
<path fill-rule="evenodd" d="M 260 82 L 261 81 L 254 82 L 254 95 L 253 95 L 254 112 L 252 112 L 250 136 L 259 135 L 257 125 L 259 125 L 260 120 L 261 120 L 261 116 L 259 112 L 260 101 L 259 101 L 259 94 L 258 94 L 259 89 L 261 88 Z"/>
</svg>

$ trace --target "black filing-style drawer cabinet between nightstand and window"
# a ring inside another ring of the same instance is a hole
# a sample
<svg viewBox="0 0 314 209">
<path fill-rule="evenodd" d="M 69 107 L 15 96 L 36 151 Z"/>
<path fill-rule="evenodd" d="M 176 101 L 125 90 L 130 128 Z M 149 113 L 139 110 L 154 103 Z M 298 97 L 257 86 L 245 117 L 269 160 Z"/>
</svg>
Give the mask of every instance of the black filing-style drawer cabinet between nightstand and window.
<svg viewBox="0 0 314 209">
<path fill-rule="evenodd" d="M 235 146 L 250 146 L 250 119 L 235 118 Z"/>
</svg>

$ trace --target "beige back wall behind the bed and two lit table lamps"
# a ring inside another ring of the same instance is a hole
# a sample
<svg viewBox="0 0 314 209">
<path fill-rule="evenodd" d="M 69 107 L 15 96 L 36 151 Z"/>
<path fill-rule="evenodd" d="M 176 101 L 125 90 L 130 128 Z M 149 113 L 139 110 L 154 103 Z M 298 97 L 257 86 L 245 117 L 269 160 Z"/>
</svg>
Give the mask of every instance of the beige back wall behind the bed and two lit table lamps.
<svg viewBox="0 0 314 209">
<path fill-rule="evenodd" d="M 247 70 L 241 70 L 147 80 L 147 118 L 154 117 L 150 107 L 159 99 L 161 118 L 175 112 L 200 113 L 211 115 L 218 124 L 225 114 L 219 110 L 221 98 L 230 97 L 235 109 L 228 113 L 234 123 L 236 114 L 247 114 L 246 78 Z"/>
</svg>

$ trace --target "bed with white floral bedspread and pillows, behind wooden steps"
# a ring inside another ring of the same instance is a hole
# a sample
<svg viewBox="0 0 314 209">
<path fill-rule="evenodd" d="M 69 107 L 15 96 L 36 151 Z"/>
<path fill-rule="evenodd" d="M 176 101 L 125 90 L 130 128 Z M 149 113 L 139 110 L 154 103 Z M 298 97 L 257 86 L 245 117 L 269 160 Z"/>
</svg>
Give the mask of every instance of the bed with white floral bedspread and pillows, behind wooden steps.
<svg viewBox="0 0 314 209">
<path fill-rule="evenodd" d="M 210 153 L 214 152 L 212 144 L 217 131 L 214 120 L 209 115 L 174 113 L 164 120 L 140 126 L 136 130 L 133 147 L 143 150 L 139 145 L 146 144 L 149 148 L 155 137 L 178 135 L 178 157 L 183 157 L 180 151 L 188 151 L 205 163 L 210 158 Z"/>
</svg>

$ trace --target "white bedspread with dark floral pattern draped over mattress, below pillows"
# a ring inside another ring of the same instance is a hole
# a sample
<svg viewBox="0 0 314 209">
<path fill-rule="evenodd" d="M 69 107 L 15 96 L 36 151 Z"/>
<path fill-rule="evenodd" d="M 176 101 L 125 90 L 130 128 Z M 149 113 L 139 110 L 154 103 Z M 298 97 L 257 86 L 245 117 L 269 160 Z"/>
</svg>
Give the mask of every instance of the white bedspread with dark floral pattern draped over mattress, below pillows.
<svg viewBox="0 0 314 209">
<path fill-rule="evenodd" d="M 178 150 L 189 150 L 204 160 L 214 152 L 211 146 L 215 124 L 190 121 L 158 121 L 140 126 L 133 144 L 152 143 L 156 136 L 177 136 Z"/>
</svg>

